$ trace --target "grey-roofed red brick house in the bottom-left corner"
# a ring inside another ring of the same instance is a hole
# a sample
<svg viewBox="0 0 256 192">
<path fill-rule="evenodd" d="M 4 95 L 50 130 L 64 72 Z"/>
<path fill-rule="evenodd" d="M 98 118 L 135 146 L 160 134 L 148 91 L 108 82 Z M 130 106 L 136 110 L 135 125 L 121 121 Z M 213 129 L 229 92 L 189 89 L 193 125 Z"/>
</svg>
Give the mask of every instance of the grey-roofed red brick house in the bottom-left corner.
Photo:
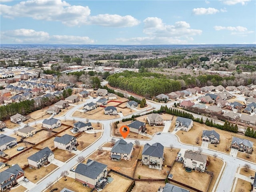
<svg viewBox="0 0 256 192">
<path fill-rule="evenodd" d="M 0 174 L 1 191 L 7 191 L 24 178 L 24 171 L 18 164 L 11 166 Z"/>
</svg>

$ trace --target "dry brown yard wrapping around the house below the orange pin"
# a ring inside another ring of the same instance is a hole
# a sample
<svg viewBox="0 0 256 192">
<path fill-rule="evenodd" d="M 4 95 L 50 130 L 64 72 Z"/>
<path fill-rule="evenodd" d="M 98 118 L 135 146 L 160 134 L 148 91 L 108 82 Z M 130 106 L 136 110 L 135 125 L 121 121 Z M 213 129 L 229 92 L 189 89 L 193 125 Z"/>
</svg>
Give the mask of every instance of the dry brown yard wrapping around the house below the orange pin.
<svg viewBox="0 0 256 192">
<path fill-rule="evenodd" d="M 133 171 L 136 167 L 136 162 L 138 158 L 141 158 L 142 147 L 136 148 L 133 151 L 133 158 L 128 161 L 112 161 L 110 158 L 110 151 L 102 151 L 102 154 L 98 154 L 98 150 L 86 158 L 85 162 L 88 159 L 92 159 L 103 164 L 108 165 L 108 169 L 113 169 L 123 174 L 126 174 L 132 177 Z"/>
</svg>

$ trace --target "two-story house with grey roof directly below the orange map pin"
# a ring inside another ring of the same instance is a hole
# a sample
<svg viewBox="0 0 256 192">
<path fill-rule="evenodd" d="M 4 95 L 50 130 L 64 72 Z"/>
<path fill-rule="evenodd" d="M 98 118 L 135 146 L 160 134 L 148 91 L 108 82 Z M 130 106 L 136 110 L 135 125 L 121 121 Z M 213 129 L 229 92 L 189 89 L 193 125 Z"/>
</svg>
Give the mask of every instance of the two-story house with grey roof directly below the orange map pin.
<svg viewBox="0 0 256 192">
<path fill-rule="evenodd" d="M 112 147 L 110 156 L 112 160 L 130 160 L 133 150 L 134 148 L 132 142 L 127 143 L 125 140 L 120 139 Z"/>
</svg>

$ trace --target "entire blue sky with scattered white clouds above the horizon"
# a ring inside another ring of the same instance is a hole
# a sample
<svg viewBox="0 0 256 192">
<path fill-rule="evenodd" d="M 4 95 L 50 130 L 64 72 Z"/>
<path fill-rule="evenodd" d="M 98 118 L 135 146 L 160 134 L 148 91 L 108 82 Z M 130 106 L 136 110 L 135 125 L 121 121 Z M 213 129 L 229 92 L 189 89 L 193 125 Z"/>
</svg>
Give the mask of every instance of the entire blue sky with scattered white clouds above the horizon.
<svg viewBox="0 0 256 192">
<path fill-rule="evenodd" d="M 0 0 L 1 44 L 256 44 L 255 0 Z"/>
</svg>

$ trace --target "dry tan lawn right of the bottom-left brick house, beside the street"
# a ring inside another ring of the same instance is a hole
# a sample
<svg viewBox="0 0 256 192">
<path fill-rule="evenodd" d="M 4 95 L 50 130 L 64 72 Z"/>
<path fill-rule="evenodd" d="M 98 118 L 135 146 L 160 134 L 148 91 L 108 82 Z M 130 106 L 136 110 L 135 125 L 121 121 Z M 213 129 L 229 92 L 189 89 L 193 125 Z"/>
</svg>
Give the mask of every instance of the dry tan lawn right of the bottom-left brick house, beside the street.
<svg viewBox="0 0 256 192">
<path fill-rule="evenodd" d="M 36 183 L 40 181 L 40 178 L 43 178 L 50 172 L 52 172 L 54 169 L 56 169 L 57 166 L 54 164 L 49 164 L 48 166 L 42 166 L 40 169 L 30 169 L 26 168 L 25 171 L 25 176 L 28 178 L 33 183 Z M 37 179 L 35 180 L 34 176 L 37 175 Z"/>
</svg>

